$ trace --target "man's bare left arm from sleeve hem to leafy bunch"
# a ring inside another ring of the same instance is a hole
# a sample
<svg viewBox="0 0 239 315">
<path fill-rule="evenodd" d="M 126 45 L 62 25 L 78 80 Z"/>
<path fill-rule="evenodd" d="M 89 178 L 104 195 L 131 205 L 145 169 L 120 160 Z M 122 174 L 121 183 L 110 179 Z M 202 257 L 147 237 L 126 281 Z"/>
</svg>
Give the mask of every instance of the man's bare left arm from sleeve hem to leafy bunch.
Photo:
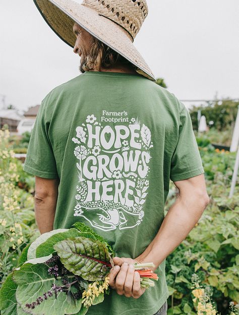
<svg viewBox="0 0 239 315">
<path fill-rule="evenodd" d="M 53 230 L 58 184 L 58 179 L 35 176 L 35 217 L 41 234 Z"/>
</svg>

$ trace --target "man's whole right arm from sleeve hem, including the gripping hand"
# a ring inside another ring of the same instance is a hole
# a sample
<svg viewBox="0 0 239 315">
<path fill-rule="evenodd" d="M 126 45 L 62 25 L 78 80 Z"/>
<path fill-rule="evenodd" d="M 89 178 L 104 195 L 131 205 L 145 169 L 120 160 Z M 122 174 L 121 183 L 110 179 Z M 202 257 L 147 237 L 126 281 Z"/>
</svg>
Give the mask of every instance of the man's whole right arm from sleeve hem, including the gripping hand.
<svg viewBox="0 0 239 315">
<path fill-rule="evenodd" d="M 123 264 L 149 263 L 153 262 L 155 270 L 161 262 L 177 247 L 193 229 L 200 219 L 203 211 L 209 204 L 209 197 L 206 191 L 204 174 L 191 177 L 185 180 L 174 181 L 179 194 L 175 203 L 167 212 L 162 225 L 145 251 L 135 259 L 114 257 L 115 265 L 121 266 L 112 269 L 109 277 L 109 284 L 116 289 L 118 294 L 140 297 L 144 290 L 134 290 L 134 281 L 128 267 Z M 139 276 L 137 275 L 137 282 Z"/>
</svg>

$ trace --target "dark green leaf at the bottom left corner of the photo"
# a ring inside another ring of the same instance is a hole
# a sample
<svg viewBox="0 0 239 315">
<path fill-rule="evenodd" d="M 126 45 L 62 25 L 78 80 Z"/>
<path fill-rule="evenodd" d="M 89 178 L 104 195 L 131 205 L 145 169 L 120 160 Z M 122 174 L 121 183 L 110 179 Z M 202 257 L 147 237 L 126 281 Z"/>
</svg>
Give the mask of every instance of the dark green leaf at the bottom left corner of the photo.
<svg viewBox="0 0 239 315">
<path fill-rule="evenodd" d="M 11 273 L 0 289 L 1 315 L 17 315 L 17 286 L 18 285 L 13 281 L 13 273 Z"/>
</svg>

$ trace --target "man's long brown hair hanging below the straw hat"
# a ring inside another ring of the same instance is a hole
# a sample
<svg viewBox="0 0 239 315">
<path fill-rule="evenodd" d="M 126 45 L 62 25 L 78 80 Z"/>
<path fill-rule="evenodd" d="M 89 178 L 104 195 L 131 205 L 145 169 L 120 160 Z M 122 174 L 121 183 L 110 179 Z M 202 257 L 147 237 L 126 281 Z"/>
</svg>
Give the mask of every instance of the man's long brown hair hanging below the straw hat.
<svg viewBox="0 0 239 315">
<path fill-rule="evenodd" d="M 120 62 L 124 66 L 131 67 L 134 70 L 138 69 L 129 60 L 108 47 L 96 37 L 93 37 L 92 39 L 92 43 L 87 56 L 83 56 L 83 58 L 81 59 L 83 59 L 81 60 L 80 65 L 80 71 L 82 73 L 86 71 L 91 71 L 93 69 L 95 69 L 96 71 L 100 71 L 102 67 L 110 68 L 114 66 L 116 62 Z"/>
</svg>

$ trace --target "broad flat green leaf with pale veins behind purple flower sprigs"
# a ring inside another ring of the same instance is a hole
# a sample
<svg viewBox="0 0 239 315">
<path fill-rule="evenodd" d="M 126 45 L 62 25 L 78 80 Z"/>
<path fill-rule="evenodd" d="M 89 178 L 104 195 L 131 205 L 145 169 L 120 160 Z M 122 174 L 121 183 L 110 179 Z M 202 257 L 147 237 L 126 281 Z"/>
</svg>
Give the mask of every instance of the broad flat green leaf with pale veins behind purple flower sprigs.
<svg viewBox="0 0 239 315">
<path fill-rule="evenodd" d="M 72 281 L 75 277 L 73 275 L 71 277 Z M 26 313 L 32 315 L 65 315 L 75 314 L 81 308 L 81 300 L 75 302 L 74 299 L 69 299 L 66 292 L 58 292 L 57 298 L 53 294 L 35 306 L 34 309 L 25 306 L 26 303 L 32 303 L 36 301 L 37 297 L 43 296 L 44 292 L 51 289 L 52 284 L 62 285 L 61 278 L 55 279 L 54 276 L 48 274 L 46 264 L 24 264 L 20 270 L 14 270 L 13 279 L 18 285 L 16 291 L 17 302 Z"/>
</svg>

